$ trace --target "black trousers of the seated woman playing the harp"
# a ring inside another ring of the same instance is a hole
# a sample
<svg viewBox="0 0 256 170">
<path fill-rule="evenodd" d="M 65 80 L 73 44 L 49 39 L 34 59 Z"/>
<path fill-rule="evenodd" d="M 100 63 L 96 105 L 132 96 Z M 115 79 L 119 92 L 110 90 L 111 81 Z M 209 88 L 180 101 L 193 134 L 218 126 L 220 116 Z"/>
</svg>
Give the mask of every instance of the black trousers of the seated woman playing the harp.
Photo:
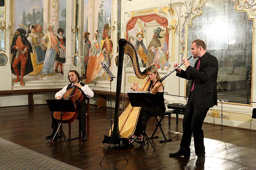
<svg viewBox="0 0 256 170">
<path fill-rule="evenodd" d="M 146 131 L 148 120 L 151 117 L 155 117 L 163 112 L 164 111 L 162 111 L 160 108 L 153 108 L 153 107 L 147 107 L 146 109 L 142 110 L 138 118 L 134 135 L 139 136 L 142 131 Z M 144 127 L 143 127 L 143 121 L 144 121 Z"/>
</svg>

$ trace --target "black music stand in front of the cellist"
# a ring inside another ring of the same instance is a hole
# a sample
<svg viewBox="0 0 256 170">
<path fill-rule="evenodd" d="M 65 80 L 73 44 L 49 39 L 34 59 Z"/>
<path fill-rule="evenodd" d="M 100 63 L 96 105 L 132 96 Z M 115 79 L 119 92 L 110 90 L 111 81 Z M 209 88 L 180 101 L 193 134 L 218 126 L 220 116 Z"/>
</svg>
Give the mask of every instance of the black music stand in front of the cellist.
<svg viewBox="0 0 256 170">
<path fill-rule="evenodd" d="M 67 140 L 70 141 L 65 133 L 62 130 L 62 116 L 63 116 L 63 112 L 76 112 L 75 110 L 75 106 L 72 100 L 64 100 L 64 99 L 53 99 L 53 100 L 46 100 L 49 109 L 51 112 L 60 112 L 60 125 L 57 129 L 57 132 L 55 133 L 53 140 L 49 141 L 48 143 L 53 143 L 55 140 L 55 136 L 58 133 L 58 130 L 60 129 L 60 134 L 61 136 L 63 136 L 64 141 L 67 143 Z M 54 142 L 54 143 L 60 143 L 63 141 L 59 141 L 59 142 Z M 48 144 L 46 143 L 46 145 Z M 68 143 L 67 146 L 69 147 Z"/>
</svg>

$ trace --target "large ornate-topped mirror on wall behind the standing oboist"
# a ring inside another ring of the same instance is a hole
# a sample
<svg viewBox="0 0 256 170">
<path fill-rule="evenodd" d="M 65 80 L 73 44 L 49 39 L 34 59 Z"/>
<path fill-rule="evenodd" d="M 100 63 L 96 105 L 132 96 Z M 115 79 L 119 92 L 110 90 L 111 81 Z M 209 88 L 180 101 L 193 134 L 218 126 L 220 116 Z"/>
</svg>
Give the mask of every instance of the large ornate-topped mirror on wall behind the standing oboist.
<svg viewBox="0 0 256 170">
<path fill-rule="evenodd" d="M 216 13 L 216 9 L 222 13 Z M 195 17 L 187 27 L 187 56 L 191 42 L 202 39 L 207 51 L 218 60 L 218 100 L 251 104 L 253 58 L 253 19 L 235 10 L 231 1 L 209 0 L 203 14 Z M 196 60 L 189 61 L 194 65 Z M 191 81 L 187 81 L 186 96 Z"/>
</svg>

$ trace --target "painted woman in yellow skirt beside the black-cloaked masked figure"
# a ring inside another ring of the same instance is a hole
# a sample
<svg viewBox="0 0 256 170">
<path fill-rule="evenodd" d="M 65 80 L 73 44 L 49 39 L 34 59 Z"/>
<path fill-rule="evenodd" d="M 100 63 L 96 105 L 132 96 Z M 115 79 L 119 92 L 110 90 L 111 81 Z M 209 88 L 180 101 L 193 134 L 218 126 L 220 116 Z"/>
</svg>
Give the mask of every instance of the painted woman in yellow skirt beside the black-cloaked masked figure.
<svg viewBox="0 0 256 170">
<path fill-rule="evenodd" d="M 33 51 L 30 53 L 33 70 L 29 75 L 37 75 L 43 68 L 43 62 L 45 54 L 41 47 L 38 46 L 40 43 L 39 35 L 35 34 L 35 26 L 33 24 L 28 25 L 28 36 L 27 39 L 32 46 Z"/>
</svg>

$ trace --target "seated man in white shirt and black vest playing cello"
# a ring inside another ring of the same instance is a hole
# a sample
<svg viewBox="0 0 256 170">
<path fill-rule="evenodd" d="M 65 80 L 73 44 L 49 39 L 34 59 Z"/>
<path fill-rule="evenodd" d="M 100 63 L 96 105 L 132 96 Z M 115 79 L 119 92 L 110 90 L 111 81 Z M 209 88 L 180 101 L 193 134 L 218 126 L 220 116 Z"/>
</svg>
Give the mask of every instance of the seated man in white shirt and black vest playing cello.
<svg viewBox="0 0 256 170">
<path fill-rule="evenodd" d="M 71 89 L 75 86 L 77 86 L 77 89 L 82 91 L 83 99 L 77 105 L 76 109 L 77 109 L 77 118 L 79 119 L 79 127 L 81 128 L 79 131 L 82 131 L 82 141 L 86 141 L 87 136 L 86 136 L 86 130 L 85 130 L 85 127 L 86 127 L 85 114 L 87 112 L 87 107 L 85 105 L 85 98 L 86 97 L 92 98 L 94 96 L 94 92 L 89 88 L 88 85 L 85 85 L 84 83 L 81 83 L 81 82 L 78 83 L 79 78 L 80 78 L 80 75 L 76 70 L 70 70 L 68 74 L 68 79 L 70 84 L 66 85 L 59 92 L 57 92 L 55 94 L 55 99 L 61 99 L 68 89 Z M 52 114 L 53 132 L 51 133 L 51 135 L 46 136 L 47 139 L 52 139 L 54 137 L 58 129 L 58 123 L 59 122 L 53 117 L 53 114 Z"/>
</svg>

